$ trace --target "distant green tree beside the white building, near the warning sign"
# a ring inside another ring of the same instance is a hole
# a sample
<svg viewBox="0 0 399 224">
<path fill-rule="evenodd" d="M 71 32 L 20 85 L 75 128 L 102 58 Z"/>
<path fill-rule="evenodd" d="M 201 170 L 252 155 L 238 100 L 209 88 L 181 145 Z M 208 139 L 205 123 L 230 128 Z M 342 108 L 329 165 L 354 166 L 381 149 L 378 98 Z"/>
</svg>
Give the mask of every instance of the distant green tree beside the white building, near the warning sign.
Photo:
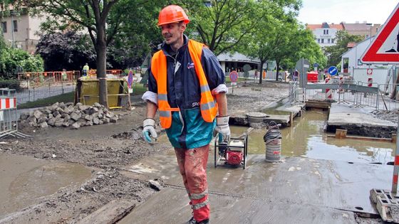
<svg viewBox="0 0 399 224">
<path fill-rule="evenodd" d="M 336 45 L 324 49 L 328 57 L 327 65 L 338 65 L 341 62 L 341 55 L 348 50 L 348 43 L 358 43 L 362 40 L 362 36 L 351 35 L 347 31 L 338 31 L 336 33 Z"/>
</svg>

